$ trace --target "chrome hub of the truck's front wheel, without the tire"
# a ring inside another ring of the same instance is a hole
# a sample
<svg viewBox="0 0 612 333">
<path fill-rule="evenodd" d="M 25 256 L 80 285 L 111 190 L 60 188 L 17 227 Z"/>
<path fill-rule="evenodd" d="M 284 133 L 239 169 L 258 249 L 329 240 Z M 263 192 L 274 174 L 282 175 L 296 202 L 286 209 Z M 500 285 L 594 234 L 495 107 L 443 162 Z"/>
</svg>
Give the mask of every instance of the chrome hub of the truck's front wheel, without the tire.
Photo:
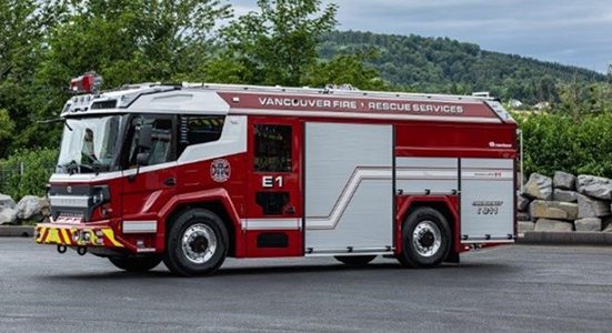
<svg viewBox="0 0 612 333">
<path fill-rule="evenodd" d="M 217 251 L 217 235 L 205 224 L 193 224 L 184 231 L 181 246 L 189 261 L 195 264 L 203 264 Z"/>
</svg>

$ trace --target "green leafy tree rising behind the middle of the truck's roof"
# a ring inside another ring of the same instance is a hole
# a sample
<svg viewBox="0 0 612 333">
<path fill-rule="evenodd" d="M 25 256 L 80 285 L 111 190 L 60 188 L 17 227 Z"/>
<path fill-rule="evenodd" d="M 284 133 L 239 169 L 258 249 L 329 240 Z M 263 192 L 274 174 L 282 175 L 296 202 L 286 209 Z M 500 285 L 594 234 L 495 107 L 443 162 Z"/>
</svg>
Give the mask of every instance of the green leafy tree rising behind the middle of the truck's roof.
<svg viewBox="0 0 612 333">
<path fill-rule="evenodd" d="M 258 12 L 240 17 L 222 31 L 225 63 L 243 69 L 230 77 L 243 83 L 300 85 L 319 58 L 321 37 L 337 24 L 337 4 L 259 0 L 258 7 Z"/>
</svg>

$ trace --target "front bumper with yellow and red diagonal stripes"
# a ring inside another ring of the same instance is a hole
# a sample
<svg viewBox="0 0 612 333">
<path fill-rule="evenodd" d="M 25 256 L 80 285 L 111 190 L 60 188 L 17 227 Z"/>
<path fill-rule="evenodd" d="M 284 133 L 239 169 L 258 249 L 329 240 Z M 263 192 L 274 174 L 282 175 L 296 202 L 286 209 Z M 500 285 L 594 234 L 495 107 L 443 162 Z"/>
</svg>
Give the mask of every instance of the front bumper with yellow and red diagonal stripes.
<svg viewBox="0 0 612 333">
<path fill-rule="evenodd" d="M 93 226 L 83 223 L 39 223 L 36 242 L 66 246 L 124 248 L 110 226 Z"/>
</svg>

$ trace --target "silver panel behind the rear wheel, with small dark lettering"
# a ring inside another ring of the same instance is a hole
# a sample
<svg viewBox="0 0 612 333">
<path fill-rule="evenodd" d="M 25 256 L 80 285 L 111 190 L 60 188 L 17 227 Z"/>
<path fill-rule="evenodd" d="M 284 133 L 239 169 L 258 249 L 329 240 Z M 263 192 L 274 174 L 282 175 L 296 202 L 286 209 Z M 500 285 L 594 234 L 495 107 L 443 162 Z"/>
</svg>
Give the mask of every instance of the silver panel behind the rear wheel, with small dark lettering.
<svg viewBox="0 0 612 333">
<path fill-rule="evenodd" d="M 514 233 L 514 160 L 461 160 L 462 243 L 511 241 Z"/>
</svg>

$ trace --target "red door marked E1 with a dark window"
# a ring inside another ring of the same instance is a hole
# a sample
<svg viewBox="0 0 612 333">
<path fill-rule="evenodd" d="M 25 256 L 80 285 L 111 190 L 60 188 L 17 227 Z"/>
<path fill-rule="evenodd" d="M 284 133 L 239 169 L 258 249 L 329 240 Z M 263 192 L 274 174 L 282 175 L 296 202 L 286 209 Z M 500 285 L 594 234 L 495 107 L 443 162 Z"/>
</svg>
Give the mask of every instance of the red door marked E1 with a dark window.
<svg viewBox="0 0 612 333">
<path fill-rule="evenodd" d="M 251 118 L 248 135 L 247 255 L 302 255 L 302 123 Z"/>
</svg>

